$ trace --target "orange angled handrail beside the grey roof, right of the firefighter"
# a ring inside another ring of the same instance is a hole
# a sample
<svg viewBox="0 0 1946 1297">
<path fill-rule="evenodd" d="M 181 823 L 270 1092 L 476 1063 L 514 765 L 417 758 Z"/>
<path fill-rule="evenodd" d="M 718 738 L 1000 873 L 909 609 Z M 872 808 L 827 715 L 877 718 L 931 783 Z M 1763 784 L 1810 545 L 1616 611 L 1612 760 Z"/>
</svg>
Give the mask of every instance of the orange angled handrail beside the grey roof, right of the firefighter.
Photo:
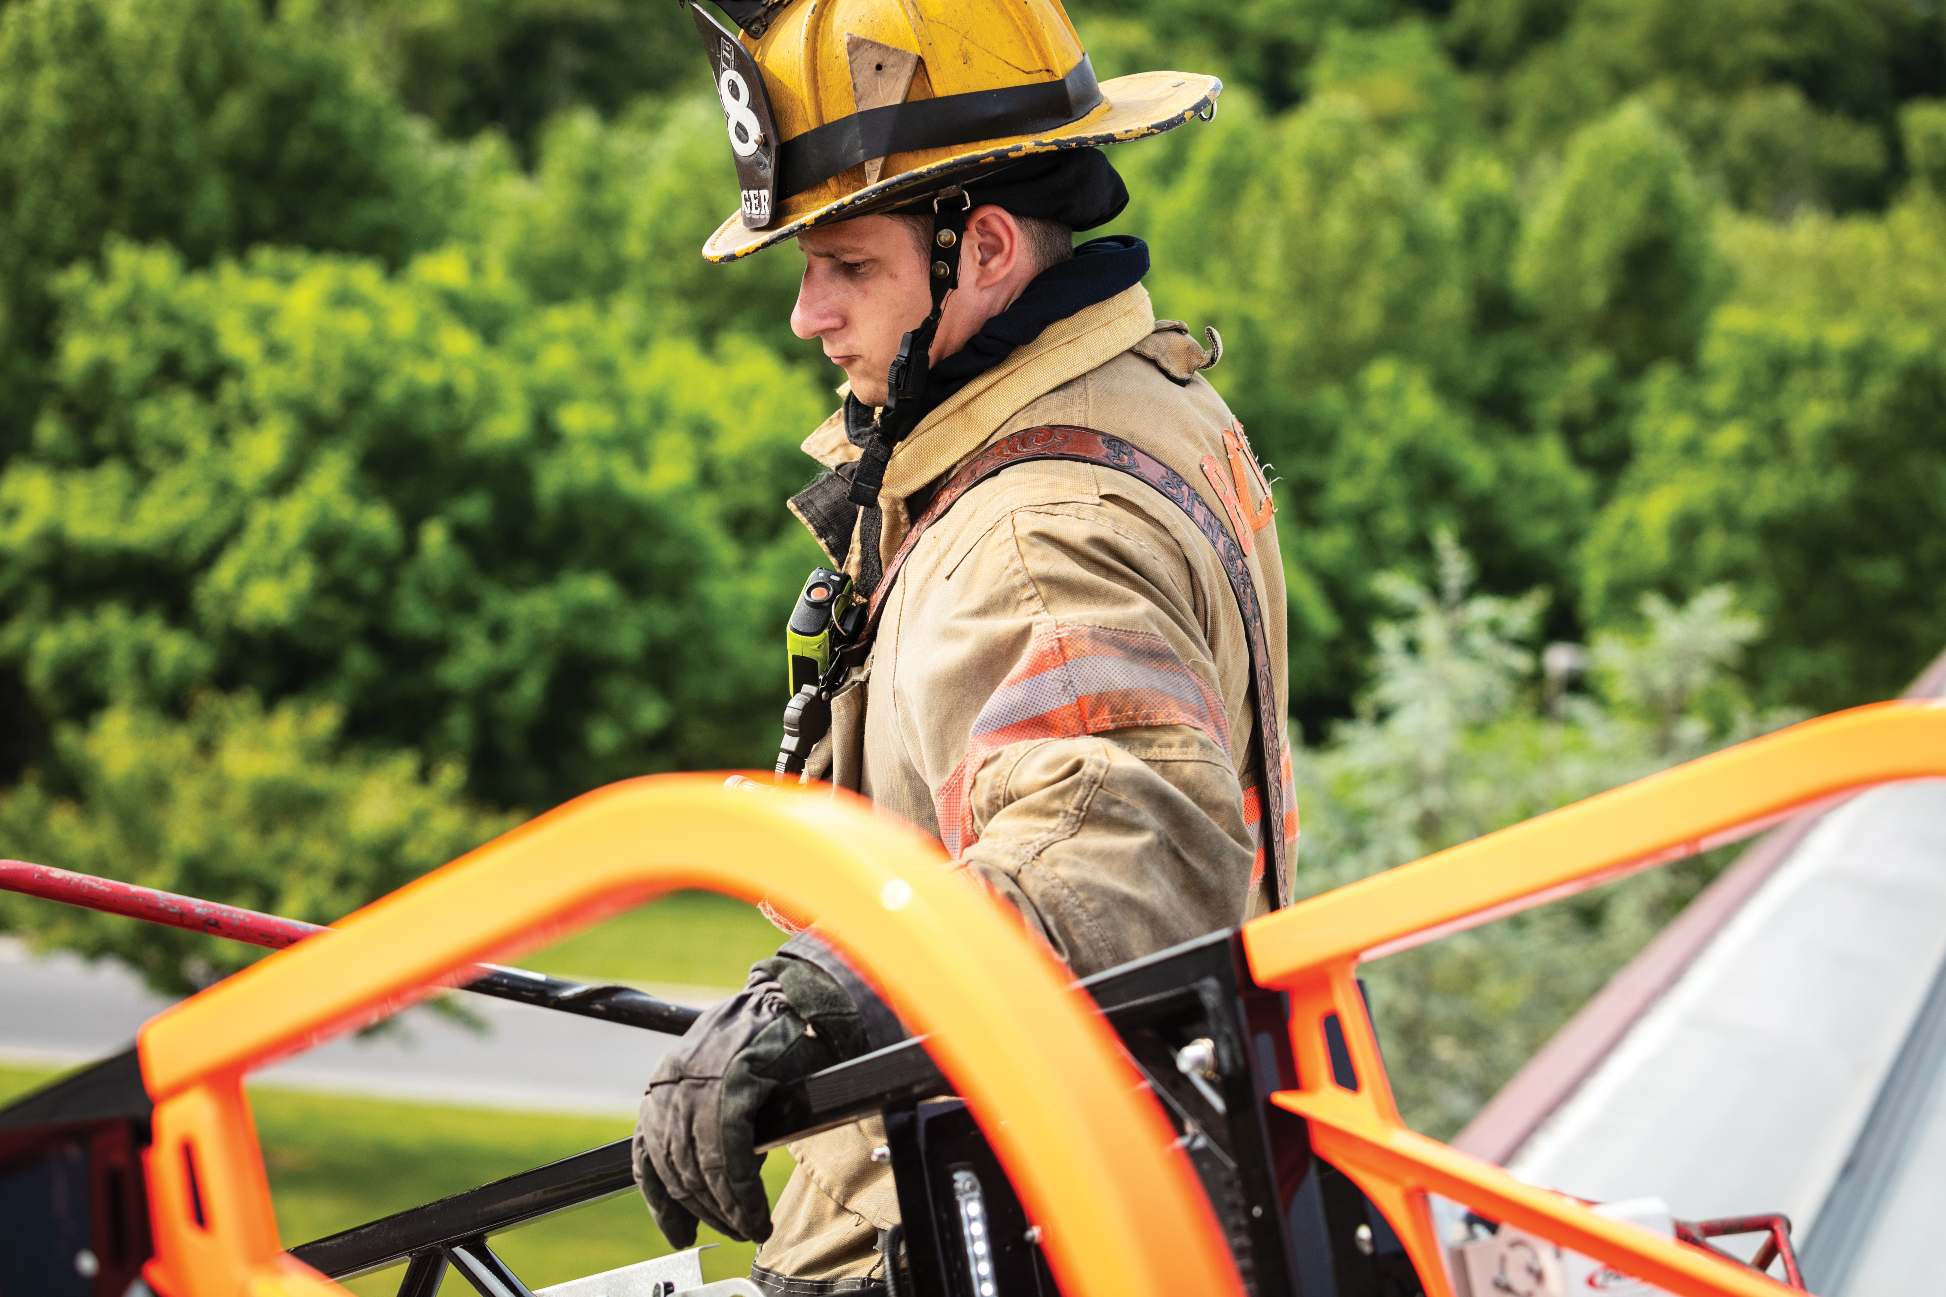
<svg viewBox="0 0 1946 1297">
<path fill-rule="evenodd" d="M 1886 784 L 1946 776 L 1946 704 L 1855 708 L 1703 756 L 1615 791 L 1438 852 L 1257 918 L 1251 976 L 1290 992 L 1298 1089 L 1275 1103 L 1310 1122 L 1312 1147 L 1386 1211 L 1426 1283 L 1450 1297 L 1426 1194 L 1456 1198 L 1685 1297 L 1788 1291 L 1701 1248 L 1594 1215 L 1399 1122 L 1352 970 L 1633 869 L 1679 859 L 1792 809 Z M 1335 1079 L 1327 1019 L 1354 1077 Z"/>
</svg>

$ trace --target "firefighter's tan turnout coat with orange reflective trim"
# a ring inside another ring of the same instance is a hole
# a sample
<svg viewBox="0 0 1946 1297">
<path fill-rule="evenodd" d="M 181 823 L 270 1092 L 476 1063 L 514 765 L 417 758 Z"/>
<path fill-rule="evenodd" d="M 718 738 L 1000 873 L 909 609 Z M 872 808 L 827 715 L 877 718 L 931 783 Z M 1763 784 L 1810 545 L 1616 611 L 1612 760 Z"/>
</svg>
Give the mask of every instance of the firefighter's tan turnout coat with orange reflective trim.
<svg viewBox="0 0 1946 1297">
<path fill-rule="evenodd" d="M 905 500 L 930 498 L 991 441 L 1041 424 L 1113 434 L 1249 537 L 1284 716 L 1277 523 L 1242 430 L 1199 373 L 1210 364 L 1183 325 L 1156 323 L 1140 284 L 1049 325 L 893 453 L 878 568 L 911 527 Z M 804 449 L 829 469 L 860 453 L 843 412 Z M 862 558 L 856 529 L 831 552 L 854 578 Z M 920 537 L 870 659 L 833 700 L 811 774 L 936 834 L 1086 976 L 1267 908 L 1249 686 L 1236 595 L 1175 504 L 1113 469 L 1024 463 Z M 1280 764 L 1294 848 L 1288 756 Z M 872 1120 L 790 1145 L 798 1173 L 757 1256 L 763 1279 L 806 1295 L 876 1285 L 878 1231 L 899 1217 L 889 1171 L 870 1161 L 882 1141 Z"/>
</svg>

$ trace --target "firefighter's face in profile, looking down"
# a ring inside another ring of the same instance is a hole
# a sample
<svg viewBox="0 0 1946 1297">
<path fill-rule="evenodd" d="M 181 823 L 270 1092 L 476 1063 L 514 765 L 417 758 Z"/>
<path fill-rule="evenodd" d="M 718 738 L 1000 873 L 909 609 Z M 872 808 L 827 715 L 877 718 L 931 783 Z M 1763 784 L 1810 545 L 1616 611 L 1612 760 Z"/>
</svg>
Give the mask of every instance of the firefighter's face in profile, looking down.
<svg viewBox="0 0 1946 1297">
<path fill-rule="evenodd" d="M 899 338 L 932 309 L 926 257 L 913 231 L 889 216 L 860 216 L 806 229 L 798 247 L 804 284 L 790 331 L 823 342 L 858 401 L 885 404 L 885 369 L 899 354 Z"/>
</svg>

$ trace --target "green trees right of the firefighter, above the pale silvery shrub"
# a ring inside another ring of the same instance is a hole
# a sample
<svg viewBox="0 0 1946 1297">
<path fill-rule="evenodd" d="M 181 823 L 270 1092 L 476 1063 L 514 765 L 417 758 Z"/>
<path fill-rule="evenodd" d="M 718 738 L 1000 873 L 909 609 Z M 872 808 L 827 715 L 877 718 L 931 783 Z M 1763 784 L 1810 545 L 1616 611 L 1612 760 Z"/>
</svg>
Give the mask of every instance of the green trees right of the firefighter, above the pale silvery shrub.
<svg viewBox="0 0 1946 1297">
<path fill-rule="evenodd" d="M 1921 521 L 1946 504 L 1936 414 L 1913 369 L 1946 342 L 1946 18 L 1851 0 L 1078 12 L 1103 72 L 1230 78 L 1214 124 L 1117 154 L 1119 224 L 1152 243 L 1158 307 L 1222 329 L 1212 381 L 1282 480 L 1306 727 L 1351 712 L 1384 614 L 1372 576 L 1430 579 L 1438 527 L 1485 589 L 1553 591 L 1555 638 L 1635 624 L 1642 591 L 1736 581 L 1769 628 L 1744 659 L 1765 704 L 1882 698 L 1946 644 Z M 1845 377 L 1798 373 L 1804 344 L 1784 344 L 1892 319 L 1905 352 L 1853 344 Z M 1783 371 L 1818 385 L 1816 408 Z M 1670 445 L 1672 404 L 1703 393 L 1720 401 Z M 1825 449 L 1746 438 L 1732 465 L 1742 401 L 1823 420 Z M 1748 490 L 1753 465 L 1786 498 Z"/>
</svg>

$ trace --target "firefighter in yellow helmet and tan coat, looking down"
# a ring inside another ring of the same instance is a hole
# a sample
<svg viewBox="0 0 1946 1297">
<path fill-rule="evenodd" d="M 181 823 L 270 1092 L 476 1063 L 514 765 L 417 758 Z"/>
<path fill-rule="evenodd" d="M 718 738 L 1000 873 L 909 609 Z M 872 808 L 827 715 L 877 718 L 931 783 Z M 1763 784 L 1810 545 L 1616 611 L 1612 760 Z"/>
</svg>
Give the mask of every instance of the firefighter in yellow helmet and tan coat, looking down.
<svg viewBox="0 0 1946 1297">
<path fill-rule="evenodd" d="M 693 18 L 741 204 L 703 255 L 798 243 L 792 329 L 848 383 L 790 509 L 878 605 L 808 778 L 936 834 L 1078 976 L 1280 904 L 1271 490 L 1201 373 L 1214 331 L 1154 317 L 1142 241 L 1072 239 L 1129 202 L 1101 146 L 1214 115 L 1220 82 L 1098 84 L 1057 0 L 722 10 L 741 31 Z M 1107 449 L 1024 457 L 1080 443 L 1043 428 Z M 775 1217 L 751 1132 L 778 1085 L 901 1034 L 815 929 L 759 963 L 642 1099 L 636 1182 L 664 1235 L 759 1241 L 769 1293 L 885 1293 L 882 1122 L 796 1141 Z"/>
</svg>

